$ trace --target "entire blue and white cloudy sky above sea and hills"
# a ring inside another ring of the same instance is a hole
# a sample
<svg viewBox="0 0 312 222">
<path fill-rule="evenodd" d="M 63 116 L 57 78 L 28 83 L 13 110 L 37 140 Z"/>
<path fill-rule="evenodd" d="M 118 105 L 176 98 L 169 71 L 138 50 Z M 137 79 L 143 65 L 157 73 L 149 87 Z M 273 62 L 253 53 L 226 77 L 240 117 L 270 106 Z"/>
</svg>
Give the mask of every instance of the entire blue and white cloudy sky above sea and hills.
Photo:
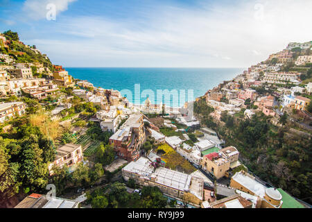
<svg viewBox="0 0 312 222">
<path fill-rule="evenodd" d="M 0 0 L 0 32 L 64 67 L 250 67 L 312 40 L 311 0 Z"/>
</svg>

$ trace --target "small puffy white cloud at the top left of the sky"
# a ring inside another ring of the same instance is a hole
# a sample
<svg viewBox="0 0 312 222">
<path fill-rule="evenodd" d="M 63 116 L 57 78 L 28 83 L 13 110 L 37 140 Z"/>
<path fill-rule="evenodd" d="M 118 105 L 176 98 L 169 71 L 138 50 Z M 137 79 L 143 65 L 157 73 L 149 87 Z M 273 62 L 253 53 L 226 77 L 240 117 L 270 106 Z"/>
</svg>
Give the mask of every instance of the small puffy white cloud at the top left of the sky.
<svg viewBox="0 0 312 222">
<path fill-rule="evenodd" d="M 45 19 L 51 10 L 55 9 L 55 15 L 66 11 L 69 3 L 73 1 L 76 0 L 26 0 L 23 10 L 31 19 Z"/>
</svg>

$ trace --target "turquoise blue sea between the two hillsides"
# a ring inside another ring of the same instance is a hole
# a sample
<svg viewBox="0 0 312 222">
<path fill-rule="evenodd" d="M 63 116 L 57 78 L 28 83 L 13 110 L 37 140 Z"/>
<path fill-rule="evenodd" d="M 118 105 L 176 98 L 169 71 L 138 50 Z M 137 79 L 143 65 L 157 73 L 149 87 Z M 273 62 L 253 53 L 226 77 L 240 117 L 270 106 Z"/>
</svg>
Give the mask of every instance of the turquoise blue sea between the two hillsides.
<svg viewBox="0 0 312 222">
<path fill-rule="evenodd" d="M 95 87 L 117 89 L 130 103 L 151 103 L 180 107 L 193 101 L 223 80 L 241 74 L 244 68 L 66 68 L 73 78 L 88 80 Z M 168 91 L 164 91 L 168 89 Z M 157 96 L 158 90 L 158 96 Z M 169 96 L 161 96 L 169 92 Z M 171 95 L 170 95 L 171 94 Z M 178 99 L 177 97 L 178 96 Z"/>
</svg>

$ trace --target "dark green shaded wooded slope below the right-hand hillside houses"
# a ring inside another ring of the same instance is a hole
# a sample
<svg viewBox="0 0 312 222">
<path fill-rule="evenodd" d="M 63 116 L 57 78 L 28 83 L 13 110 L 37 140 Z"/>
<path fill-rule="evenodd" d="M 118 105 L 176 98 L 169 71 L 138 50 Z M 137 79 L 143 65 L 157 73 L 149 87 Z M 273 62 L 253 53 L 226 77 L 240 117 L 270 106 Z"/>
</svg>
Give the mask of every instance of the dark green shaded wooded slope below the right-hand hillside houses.
<svg viewBox="0 0 312 222">
<path fill-rule="evenodd" d="M 286 119 L 285 115 L 281 123 L 286 123 Z M 309 197 L 306 201 L 312 203 L 309 187 L 312 178 L 311 140 L 288 133 L 287 124 L 281 128 L 273 126 L 270 117 L 262 113 L 255 114 L 250 120 L 224 113 L 221 120 L 225 121 L 225 126 L 215 123 L 211 128 L 225 139 L 226 146 L 239 149 L 241 161 L 250 171 L 297 198 Z M 202 123 L 207 122 L 202 119 Z"/>
</svg>

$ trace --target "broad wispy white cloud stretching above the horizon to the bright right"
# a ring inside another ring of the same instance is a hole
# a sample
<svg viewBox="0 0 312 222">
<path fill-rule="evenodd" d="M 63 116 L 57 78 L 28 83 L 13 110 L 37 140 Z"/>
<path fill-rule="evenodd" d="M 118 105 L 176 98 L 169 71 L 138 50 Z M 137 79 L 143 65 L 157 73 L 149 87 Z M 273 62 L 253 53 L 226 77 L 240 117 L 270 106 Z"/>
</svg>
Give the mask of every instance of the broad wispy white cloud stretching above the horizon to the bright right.
<svg viewBox="0 0 312 222">
<path fill-rule="evenodd" d="M 248 67 L 288 42 L 310 41 L 311 8 L 309 0 L 242 1 L 157 8 L 144 19 L 73 17 L 56 30 L 70 39 L 46 51 L 69 66 Z"/>
</svg>

